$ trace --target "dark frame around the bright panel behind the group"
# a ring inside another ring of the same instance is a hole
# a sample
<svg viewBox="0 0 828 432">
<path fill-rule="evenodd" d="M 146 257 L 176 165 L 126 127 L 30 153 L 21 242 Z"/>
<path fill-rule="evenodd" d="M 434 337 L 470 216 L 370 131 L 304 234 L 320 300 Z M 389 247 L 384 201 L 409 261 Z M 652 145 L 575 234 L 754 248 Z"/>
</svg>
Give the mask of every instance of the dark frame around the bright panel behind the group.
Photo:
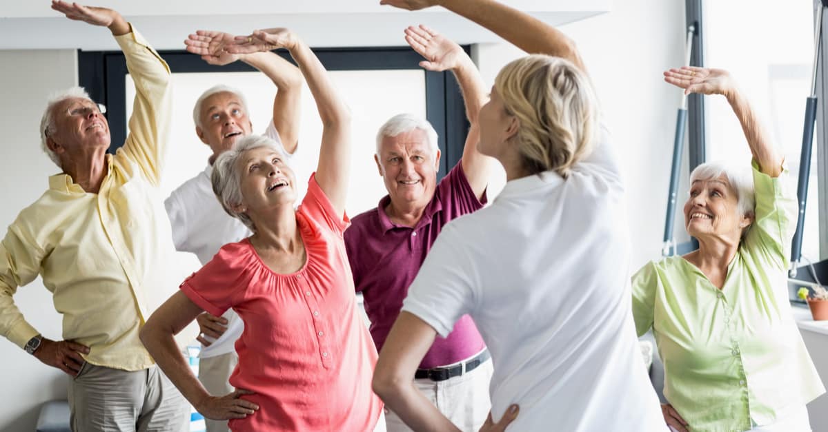
<svg viewBox="0 0 828 432">
<path fill-rule="evenodd" d="M 470 46 L 463 46 L 470 53 Z M 327 70 L 422 70 L 422 60 L 407 46 L 366 48 L 320 48 L 313 50 Z M 274 51 L 295 63 L 286 50 Z M 198 55 L 185 50 L 161 50 L 161 57 L 173 73 L 184 72 L 254 72 L 253 66 L 237 61 L 230 65 L 208 65 Z M 112 145 L 109 152 L 123 146 L 127 137 L 126 84 L 127 63 L 121 51 L 78 52 L 79 84 L 94 101 L 107 107 Z M 437 131 L 440 157 L 438 178 L 448 173 L 463 156 L 469 122 L 465 117 L 465 105 L 460 86 L 448 71 L 425 71 L 426 118 Z M 390 118 L 395 113 L 388 113 Z"/>
</svg>

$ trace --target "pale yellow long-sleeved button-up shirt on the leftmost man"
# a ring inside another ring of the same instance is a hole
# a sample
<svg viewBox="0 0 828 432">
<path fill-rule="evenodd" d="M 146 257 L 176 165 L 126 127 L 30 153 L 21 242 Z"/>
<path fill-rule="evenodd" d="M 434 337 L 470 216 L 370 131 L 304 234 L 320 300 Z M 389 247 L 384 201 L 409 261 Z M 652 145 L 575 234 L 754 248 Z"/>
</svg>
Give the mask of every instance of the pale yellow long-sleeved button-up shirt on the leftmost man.
<svg viewBox="0 0 828 432">
<path fill-rule="evenodd" d="M 0 334 L 23 347 L 39 332 L 12 295 L 40 274 L 63 314 L 63 338 L 89 346 L 87 362 L 136 371 L 153 364 L 138 331 L 175 292 L 170 223 L 158 190 L 171 113 L 170 70 L 136 31 L 115 38 L 135 81 L 130 133 L 99 194 L 69 175 L 23 209 L 0 244 Z"/>
</svg>

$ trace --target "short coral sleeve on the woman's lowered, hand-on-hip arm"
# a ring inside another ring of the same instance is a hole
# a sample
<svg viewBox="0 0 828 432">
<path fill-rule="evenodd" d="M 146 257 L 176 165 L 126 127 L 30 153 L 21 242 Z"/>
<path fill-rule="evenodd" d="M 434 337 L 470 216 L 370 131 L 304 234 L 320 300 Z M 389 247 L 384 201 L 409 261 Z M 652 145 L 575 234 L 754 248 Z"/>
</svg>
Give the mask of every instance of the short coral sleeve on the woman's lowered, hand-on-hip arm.
<svg viewBox="0 0 828 432">
<path fill-rule="evenodd" d="M 239 253 L 246 240 L 231 243 L 219 250 L 199 271 L 186 278 L 181 284 L 181 291 L 195 305 L 210 314 L 220 316 L 236 303 L 238 292 L 244 290 L 243 260 L 248 253 Z"/>
</svg>

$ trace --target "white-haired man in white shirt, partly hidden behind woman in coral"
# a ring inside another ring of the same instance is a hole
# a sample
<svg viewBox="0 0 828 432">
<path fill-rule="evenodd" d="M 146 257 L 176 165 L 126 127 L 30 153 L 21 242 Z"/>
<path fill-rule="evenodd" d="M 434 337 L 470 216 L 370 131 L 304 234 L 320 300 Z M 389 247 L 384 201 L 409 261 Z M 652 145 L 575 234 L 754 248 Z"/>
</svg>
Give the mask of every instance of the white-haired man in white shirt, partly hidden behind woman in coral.
<svg viewBox="0 0 828 432">
<path fill-rule="evenodd" d="M 272 122 L 265 136 L 282 143 L 288 157 L 295 155 L 299 132 L 299 105 L 302 77 L 299 69 L 272 52 L 231 55 L 223 52 L 219 57 L 209 55 L 210 41 L 218 42 L 233 36 L 218 31 L 198 31 L 185 42 L 187 50 L 201 55 L 210 65 L 227 65 L 242 60 L 262 71 L 277 86 L 273 98 Z M 253 124 L 248 118 L 248 104 L 238 90 L 216 85 L 201 94 L 193 109 L 195 133 L 213 151 L 205 170 L 172 192 L 166 199 L 166 212 L 172 225 L 172 237 L 176 249 L 192 252 L 202 265 L 229 242 L 238 242 L 250 235 L 250 231 L 237 218 L 232 218 L 221 208 L 210 183 L 213 161 L 233 147 L 241 137 L 249 135 Z M 298 168 L 297 176 L 310 175 Z M 199 380 L 214 395 L 233 391 L 228 380 L 238 363 L 235 342 L 241 336 L 244 324 L 233 310 L 222 316 L 204 313 L 198 317 L 201 330 L 199 342 Z M 208 432 L 226 432 L 227 420 L 205 420 Z"/>
</svg>

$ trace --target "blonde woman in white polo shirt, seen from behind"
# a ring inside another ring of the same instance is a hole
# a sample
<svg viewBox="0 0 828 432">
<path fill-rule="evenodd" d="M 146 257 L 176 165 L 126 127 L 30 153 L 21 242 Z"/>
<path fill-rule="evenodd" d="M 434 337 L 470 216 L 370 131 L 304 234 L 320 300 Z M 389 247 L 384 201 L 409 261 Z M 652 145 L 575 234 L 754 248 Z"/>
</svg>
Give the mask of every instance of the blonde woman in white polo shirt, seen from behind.
<svg viewBox="0 0 828 432">
<path fill-rule="evenodd" d="M 578 50 L 492 0 L 440 4 L 546 55 L 514 60 L 495 79 L 477 148 L 508 182 L 491 206 L 443 228 L 379 355 L 374 390 L 412 429 L 456 430 L 411 376 L 436 334 L 469 314 L 494 365 L 484 429 L 517 415 L 510 430 L 666 431 L 630 309 L 623 181 Z"/>
</svg>

